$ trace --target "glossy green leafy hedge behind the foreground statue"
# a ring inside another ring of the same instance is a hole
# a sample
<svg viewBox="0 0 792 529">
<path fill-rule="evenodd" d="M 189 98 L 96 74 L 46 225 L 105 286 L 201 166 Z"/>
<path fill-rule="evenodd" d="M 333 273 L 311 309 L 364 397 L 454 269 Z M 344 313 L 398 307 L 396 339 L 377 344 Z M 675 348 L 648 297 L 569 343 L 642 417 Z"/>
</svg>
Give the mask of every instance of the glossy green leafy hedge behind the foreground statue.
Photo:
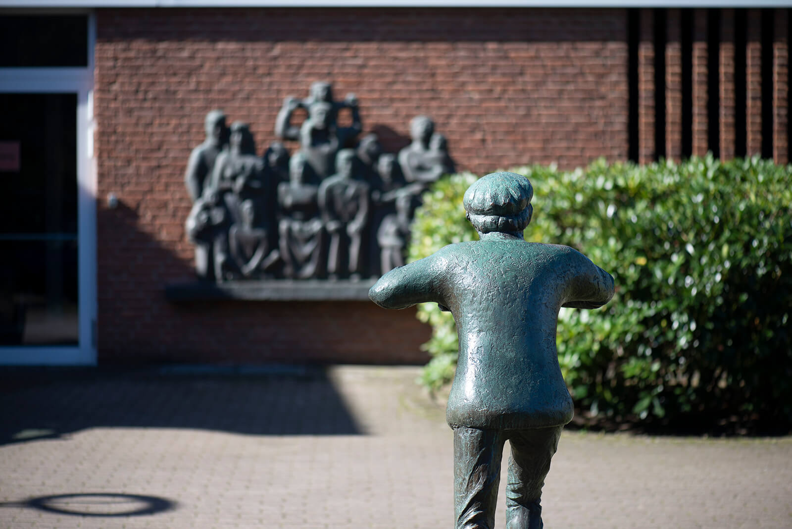
<svg viewBox="0 0 792 529">
<path fill-rule="evenodd" d="M 577 405 L 653 420 L 737 415 L 792 423 L 792 173 L 758 158 L 649 166 L 510 169 L 534 185 L 529 241 L 573 246 L 611 272 L 600 310 L 562 309 L 558 360 Z M 410 260 L 473 240 L 471 174 L 444 178 L 417 211 Z M 453 376 L 450 314 L 432 325 L 424 382 Z"/>
</svg>

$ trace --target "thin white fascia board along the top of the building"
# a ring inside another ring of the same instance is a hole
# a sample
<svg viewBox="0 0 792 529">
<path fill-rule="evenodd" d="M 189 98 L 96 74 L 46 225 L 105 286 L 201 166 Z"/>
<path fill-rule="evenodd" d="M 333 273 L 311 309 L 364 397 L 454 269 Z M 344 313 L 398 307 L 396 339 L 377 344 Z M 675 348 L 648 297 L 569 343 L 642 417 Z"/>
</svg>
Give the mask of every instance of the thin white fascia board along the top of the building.
<svg viewBox="0 0 792 529">
<path fill-rule="evenodd" d="M 790 7 L 792 0 L 0 0 L 0 8 L 101 7 Z"/>
</svg>

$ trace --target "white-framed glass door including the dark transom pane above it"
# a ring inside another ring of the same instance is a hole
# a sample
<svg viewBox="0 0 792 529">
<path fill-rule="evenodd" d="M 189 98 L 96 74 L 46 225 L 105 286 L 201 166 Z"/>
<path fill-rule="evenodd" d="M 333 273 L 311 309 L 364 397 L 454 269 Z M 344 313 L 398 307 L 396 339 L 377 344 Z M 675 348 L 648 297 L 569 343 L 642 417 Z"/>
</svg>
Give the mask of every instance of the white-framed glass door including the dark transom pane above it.
<svg viewBox="0 0 792 529">
<path fill-rule="evenodd" d="M 0 364 L 93 364 L 96 21 L 0 8 L 0 40 Z"/>
</svg>

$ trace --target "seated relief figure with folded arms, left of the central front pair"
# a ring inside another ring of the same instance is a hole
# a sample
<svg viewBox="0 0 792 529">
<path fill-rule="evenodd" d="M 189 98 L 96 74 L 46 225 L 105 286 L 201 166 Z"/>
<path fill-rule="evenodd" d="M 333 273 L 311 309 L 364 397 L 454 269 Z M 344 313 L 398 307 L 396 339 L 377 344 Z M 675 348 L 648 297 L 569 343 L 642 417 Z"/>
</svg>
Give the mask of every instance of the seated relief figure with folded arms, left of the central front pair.
<svg viewBox="0 0 792 529">
<path fill-rule="evenodd" d="M 310 183 L 310 166 L 303 153 L 289 161 L 289 181 L 278 185 L 283 217 L 278 223 L 284 276 L 306 279 L 324 275 L 325 230 L 319 219 L 318 186 Z"/>
</svg>

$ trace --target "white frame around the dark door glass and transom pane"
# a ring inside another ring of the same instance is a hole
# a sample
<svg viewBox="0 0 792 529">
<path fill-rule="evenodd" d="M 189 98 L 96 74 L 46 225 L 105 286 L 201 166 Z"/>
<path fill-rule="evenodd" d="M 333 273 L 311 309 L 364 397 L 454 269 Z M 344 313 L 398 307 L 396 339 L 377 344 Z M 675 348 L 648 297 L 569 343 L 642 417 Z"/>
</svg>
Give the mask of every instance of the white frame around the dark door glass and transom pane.
<svg viewBox="0 0 792 529">
<path fill-rule="evenodd" d="M 3 14 L 17 14 L 18 10 Z M 96 19 L 86 10 L 59 14 L 88 15 L 88 66 L 77 68 L 0 68 L 0 93 L 77 94 L 77 189 L 78 189 L 78 325 L 74 345 L 0 346 L 4 365 L 95 365 L 97 318 L 96 196 L 97 170 L 93 157 L 93 47 Z M 29 14 L 51 14 L 43 10 Z"/>
</svg>

